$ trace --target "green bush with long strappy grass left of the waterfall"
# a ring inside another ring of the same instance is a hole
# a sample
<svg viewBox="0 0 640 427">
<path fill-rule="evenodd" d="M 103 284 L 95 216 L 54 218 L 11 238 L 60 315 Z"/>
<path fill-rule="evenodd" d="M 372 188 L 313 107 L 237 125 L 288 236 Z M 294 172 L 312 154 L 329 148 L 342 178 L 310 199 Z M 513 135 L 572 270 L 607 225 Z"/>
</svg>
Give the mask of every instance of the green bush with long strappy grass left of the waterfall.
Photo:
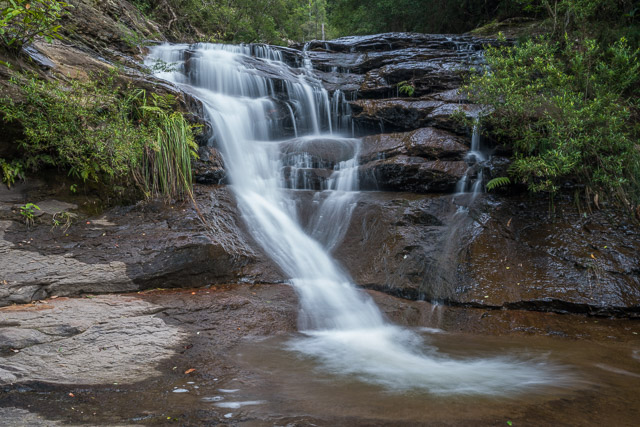
<svg viewBox="0 0 640 427">
<path fill-rule="evenodd" d="M 195 143 L 191 126 L 172 112 L 172 97 L 153 95 L 148 105 L 144 91 L 121 88 L 114 73 L 67 85 L 17 74 L 12 83 L 24 101 L 4 99 L 0 113 L 24 128 L 19 161 L 26 169 L 56 167 L 114 193 L 132 183 L 149 197 L 190 191 L 191 164 L 182 154 L 191 155 Z M 153 166 L 156 157 L 165 159 L 164 168 Z"/>
</svg>

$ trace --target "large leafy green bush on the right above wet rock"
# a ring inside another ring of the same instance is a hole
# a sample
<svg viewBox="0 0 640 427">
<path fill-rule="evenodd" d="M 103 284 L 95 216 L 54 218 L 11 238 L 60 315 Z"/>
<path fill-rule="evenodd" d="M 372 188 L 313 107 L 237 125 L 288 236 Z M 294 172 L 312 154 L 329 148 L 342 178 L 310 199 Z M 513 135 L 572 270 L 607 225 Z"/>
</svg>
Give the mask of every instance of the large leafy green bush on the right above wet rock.
<svg viewBox="0 0 640 427">
<path fill-rule="evenodd" d="M 573 180 L 640 201 L 638 49 L 624 38 L 606 47 L 538 39 L 489 48 L 486 59 L 466 89 L 492 107 L 483 128 L 513 148 L 512 178 L 533 192 L 555 193 Z"/>
</svg>

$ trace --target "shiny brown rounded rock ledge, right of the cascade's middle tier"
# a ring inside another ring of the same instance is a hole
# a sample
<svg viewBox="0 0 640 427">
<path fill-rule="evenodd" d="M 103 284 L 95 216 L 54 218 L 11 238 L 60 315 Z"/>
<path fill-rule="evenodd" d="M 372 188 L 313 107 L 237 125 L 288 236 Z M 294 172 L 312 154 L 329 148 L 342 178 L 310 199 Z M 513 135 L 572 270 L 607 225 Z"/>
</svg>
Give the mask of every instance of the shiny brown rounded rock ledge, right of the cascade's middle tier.
<svg viewBox="0 0 640 427">
<path fill-rule="evenodd" d="M 421 128 L 406 133 L 364 137 L 359 158 L 361 163 L 397 155 L 462 159 L 469 151 L 465 143 L 467 141 L 464 138 L 452 133 L 436 128 Z"/>
</svg>

